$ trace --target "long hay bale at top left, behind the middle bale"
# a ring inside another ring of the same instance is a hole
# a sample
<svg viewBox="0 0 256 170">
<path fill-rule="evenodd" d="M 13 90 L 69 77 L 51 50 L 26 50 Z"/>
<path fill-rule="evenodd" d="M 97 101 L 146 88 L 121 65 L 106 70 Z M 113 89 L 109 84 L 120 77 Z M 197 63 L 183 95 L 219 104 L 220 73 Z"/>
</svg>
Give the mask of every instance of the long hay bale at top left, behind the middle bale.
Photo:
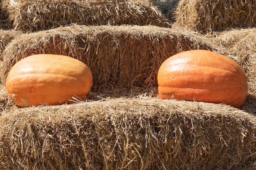
<svg viewBox="0 0 256 170">
<path fill-rule="evenodd" d="M 23 32 L 77 25 L 156 25 L 168 20 L 150 0 L 3 0 L 13 28 Z"/>
</svg>

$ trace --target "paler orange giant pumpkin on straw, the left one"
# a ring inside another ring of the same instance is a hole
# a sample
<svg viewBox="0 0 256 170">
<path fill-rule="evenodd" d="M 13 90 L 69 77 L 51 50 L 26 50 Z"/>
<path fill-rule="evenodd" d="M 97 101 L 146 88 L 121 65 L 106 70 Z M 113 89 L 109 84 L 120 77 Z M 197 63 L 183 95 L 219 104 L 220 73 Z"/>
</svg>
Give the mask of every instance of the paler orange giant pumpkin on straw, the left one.
<svg viewBox="0 0 256 170">
<path fill-rule="evenodd" d="M 92 87 L 92 72 L 85 63 L 56 54 L 36 54 L 18 61 L 10 69 L 6 88 L 20 107 L 61 105 L 85 100 Z"/>
</svg>

